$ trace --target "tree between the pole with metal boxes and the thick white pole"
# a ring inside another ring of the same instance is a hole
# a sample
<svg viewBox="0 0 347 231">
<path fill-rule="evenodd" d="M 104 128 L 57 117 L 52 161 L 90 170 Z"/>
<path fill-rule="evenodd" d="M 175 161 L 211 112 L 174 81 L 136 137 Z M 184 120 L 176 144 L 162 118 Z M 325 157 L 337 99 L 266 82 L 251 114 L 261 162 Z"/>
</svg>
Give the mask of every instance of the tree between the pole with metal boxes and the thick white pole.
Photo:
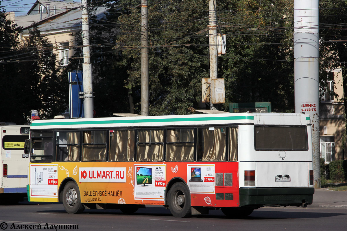
<svg viewBox="0 0 347 231">
<path fill-rule="evenodd" d="M 269 101 L 277 112 L 294 112 L 292 9 L 292 1 L 219 2 L 227 54 L 218 62 L 227 103 Z"/>
</svg>

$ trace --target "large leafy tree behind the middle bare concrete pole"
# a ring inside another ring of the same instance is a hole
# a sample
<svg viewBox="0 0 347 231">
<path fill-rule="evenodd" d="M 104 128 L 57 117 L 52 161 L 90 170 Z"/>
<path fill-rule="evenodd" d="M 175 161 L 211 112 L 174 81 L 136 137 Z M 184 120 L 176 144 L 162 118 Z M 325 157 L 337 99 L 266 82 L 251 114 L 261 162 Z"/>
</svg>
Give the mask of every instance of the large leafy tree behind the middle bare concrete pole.
<svg viewBox="0 0 347 231">
<path fill-rule="evenodd" d="M 135 99 L 139 99 L 140 8 L 136 1 L 132 3 L 129 14 L 121 14 L 118 18 L 117 49 L 122 57 L 118 63 L 127 69 L 125 87 Z M 208 50 L 203 45 L 208 38 L 196 33 L 207 26 L 205 3 L 186 0 L 148 4 L 150 115 L 193 113 L 201 100 L 201 78 L 209 75 Z M 135 110 L 139 112 L 137 102 Z"/>
</svg>

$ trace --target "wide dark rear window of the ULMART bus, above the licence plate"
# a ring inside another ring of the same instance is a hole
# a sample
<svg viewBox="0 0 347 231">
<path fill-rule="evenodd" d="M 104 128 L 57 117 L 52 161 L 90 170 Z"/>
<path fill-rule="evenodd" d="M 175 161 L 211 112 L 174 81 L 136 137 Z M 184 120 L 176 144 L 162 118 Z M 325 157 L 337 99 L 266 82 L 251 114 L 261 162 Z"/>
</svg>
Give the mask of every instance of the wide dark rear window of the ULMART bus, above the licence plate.
<svg viewBox="0 0 347 231">
<path fill-rule="evenodd" d="M 254 126 L 255 150 L 307 151 L 306 126 Z"/>
</svg>

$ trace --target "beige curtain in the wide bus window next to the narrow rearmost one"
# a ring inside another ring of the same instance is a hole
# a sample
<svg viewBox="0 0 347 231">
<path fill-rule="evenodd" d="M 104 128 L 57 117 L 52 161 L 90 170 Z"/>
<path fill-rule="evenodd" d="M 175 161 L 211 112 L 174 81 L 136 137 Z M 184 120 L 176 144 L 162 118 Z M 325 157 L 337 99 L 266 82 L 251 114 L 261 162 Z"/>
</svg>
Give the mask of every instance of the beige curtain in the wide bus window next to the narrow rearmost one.
<svg viewBox="0 0 347 231">
<path fill-rule="evenodd" d="M 204 140 L 204 152 L 202 155 L 202 161 L 225 160 L 225 131 L 225 127 L 215 127 L 214 130 L 210 130 L 209 127 L 202 128 Z"/>
</svg>

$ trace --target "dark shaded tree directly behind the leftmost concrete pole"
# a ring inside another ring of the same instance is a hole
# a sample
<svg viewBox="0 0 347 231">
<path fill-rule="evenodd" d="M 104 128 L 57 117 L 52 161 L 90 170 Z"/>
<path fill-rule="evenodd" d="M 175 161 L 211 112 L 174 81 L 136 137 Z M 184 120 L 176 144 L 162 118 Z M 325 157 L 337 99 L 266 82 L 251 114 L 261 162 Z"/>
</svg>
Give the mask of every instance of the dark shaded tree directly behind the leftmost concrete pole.
<svg viewBox="0 0 347 231">
<path fill-rule="evenodd" d="M 111 8 L 109 13 L 98 20 L 94 15 L 94 9 L 100 1 L 95 4 L 88 5 L 95 116 L 108 117 L 113 116 L 113 113 L 128 113 L 130 110 L 128 90 L 124 87 L 127 73 L 126 69 L 117 65 L 120 54 L 113 48 L 118 32 L 118 10 L 109 6 Z M 70 59 L 67 69 L 82 71 L 82 37 L 79 33 L 74 35 L 76 39 L 74 56 L 81 59 Z"/>
</svg>

